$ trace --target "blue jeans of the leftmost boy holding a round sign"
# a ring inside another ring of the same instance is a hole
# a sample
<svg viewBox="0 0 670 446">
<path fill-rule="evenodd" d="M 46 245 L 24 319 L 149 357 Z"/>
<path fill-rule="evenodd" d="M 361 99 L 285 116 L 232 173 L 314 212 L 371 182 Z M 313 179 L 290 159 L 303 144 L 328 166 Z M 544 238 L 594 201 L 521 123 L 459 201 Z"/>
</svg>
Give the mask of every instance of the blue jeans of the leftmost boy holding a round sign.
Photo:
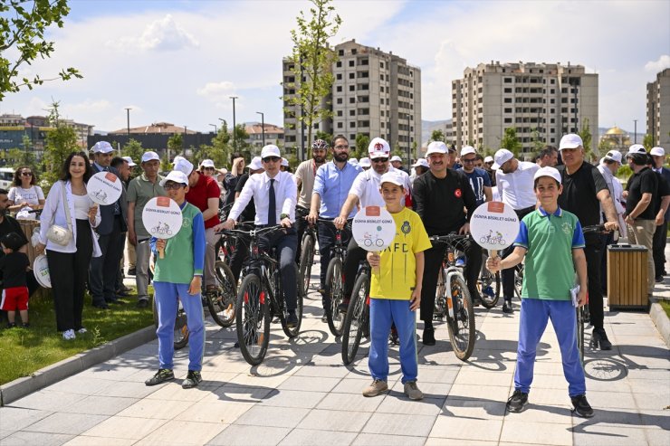
<svg viewBox="0 0 670 446">
<path fill-rule="evenodd" d="M 174 368 L 175 318 L 181 304 L 187 312 L 188 370 L 199 372 L 203 368 L 205 353 L 205 316 L 200 292 L 188 294 L 185 283 L 154 282 L 156 309 L 158 311 L 158 363 L 160 368 Z"/>
</svg>

